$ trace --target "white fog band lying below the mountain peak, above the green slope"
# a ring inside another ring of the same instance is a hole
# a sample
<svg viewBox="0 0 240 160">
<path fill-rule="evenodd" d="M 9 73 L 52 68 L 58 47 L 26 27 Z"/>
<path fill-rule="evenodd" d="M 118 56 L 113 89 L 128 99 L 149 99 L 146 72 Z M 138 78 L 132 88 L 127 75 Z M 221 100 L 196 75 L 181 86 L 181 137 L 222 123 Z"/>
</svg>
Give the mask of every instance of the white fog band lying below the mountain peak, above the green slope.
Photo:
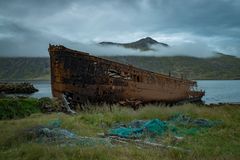
<svg viewBox="0 0 240 160">
<path fill-rule="evenodd" d="M 122 46 L 91 44 L 69 44 L 66 47 L 88 52 L 95 56 L 192 56 L 211 57 L 214 56 L 212 48 L 205 43 L 181 43 L 169 47 L 161 45 L 150 46 L 151 50 L 141 51 L 139 49 L 125 48 Z"/>
</svg>

